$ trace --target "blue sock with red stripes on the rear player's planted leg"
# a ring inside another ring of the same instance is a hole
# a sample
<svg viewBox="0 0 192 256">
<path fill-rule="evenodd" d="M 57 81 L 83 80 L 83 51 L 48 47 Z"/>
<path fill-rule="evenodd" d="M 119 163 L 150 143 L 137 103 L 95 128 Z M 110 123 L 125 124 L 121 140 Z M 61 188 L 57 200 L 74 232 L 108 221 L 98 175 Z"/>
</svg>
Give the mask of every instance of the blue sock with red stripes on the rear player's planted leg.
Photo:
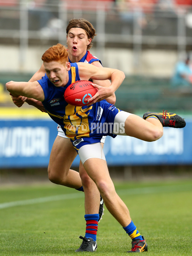
<svg viewBox="0 0 192 256">
<path fill-rule="evenodd" d="M 84 217 L 85 217 L 85 220 L 86 220 L 85 237 L 86 238 L 92 238 L 93 241 L 96 241 L 98 221 L 99 221 L 99 213 L 97 213 L 97 214 L 85 214 Z"/>
</svg>

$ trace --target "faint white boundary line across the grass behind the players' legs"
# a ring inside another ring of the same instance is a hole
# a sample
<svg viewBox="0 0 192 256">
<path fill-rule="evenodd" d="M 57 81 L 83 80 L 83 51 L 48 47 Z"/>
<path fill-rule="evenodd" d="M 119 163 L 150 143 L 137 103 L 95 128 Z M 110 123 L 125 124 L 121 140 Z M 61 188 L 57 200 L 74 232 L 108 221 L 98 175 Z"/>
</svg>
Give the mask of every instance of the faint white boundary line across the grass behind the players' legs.
<svg viewBox="0 0 192 256">
<path fill-rule="evenodd" d="M 170 186 L 167 185 L 167 186 L 159 186 L 159 187 L 119 189 L 119 190 L 116 190 L 116 192 L 119 195 L 125 195 L 125 194 L 126 195 L 136 195 L 136 194 L 151 194 L 151 193 L 176 192 L 176 191 L 186 191 L 186 190 L 191 191 L 192 189 L 185 185 L 170 185 Z M 72 193 L 72 194 L 39 197 L 39 198 L 34 198 L 34 199 L 1 203 L 0 209 L 14 207 L 14 206 L 51 202 L 51 201 L 83 198 L 83 197 L 84 197 L 84 193 L 82 193 L 82 192 L 81 193 L 79 192 L 79 193 Z"/>
</svg>

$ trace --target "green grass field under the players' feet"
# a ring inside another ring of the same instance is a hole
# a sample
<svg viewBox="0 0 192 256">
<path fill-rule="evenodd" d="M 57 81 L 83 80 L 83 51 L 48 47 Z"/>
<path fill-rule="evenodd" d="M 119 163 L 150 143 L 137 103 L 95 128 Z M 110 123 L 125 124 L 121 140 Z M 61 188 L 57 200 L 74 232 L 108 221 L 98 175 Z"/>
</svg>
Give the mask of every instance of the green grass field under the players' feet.
<svg viewBox="0 0 192 256">
<path fill-rule="evenodd" d="M 144 254 L 192 255 L 192 180 L 115 186 L 147 240 Z M 104 213 L 94 254 L 127 255 L 131 239 Z M 76 255 L 84 233 L 83 192 L 52 183 L 0 188 L 0 255 Z"/>
</svg>

